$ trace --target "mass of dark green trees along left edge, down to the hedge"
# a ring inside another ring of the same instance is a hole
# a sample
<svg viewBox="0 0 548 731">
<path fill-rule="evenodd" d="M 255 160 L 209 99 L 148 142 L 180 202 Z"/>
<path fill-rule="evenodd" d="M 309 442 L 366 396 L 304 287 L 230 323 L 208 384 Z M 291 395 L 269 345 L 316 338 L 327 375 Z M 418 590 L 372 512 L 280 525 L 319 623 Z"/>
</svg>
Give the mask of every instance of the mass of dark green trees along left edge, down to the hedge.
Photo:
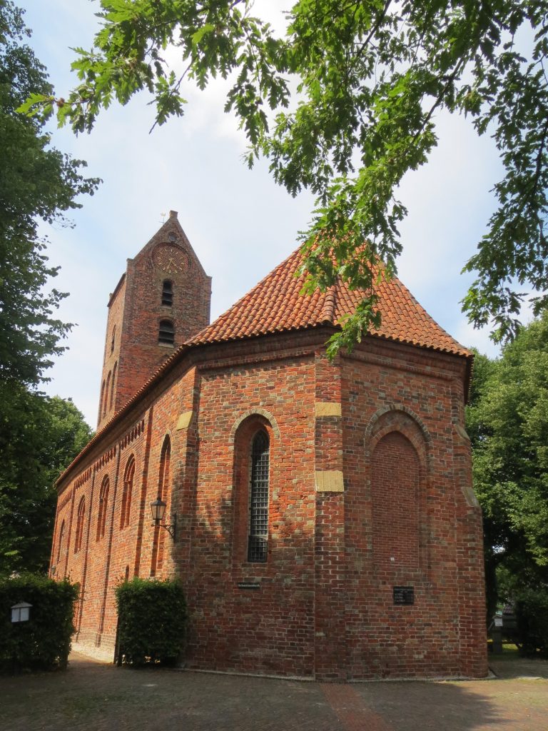
<svg viewBox="0 0 548 731">
<path fill-rule="evenodd" d="M 50 148 L 44 120 L 16 111 L 29 94 L 52 94 L 23 43 L 21 11 L 0 1 L 0 572 L 44 569 L 55 509 L 53 480 L 90 430 L 75 406 L 37 392 L 70 325 L 54 317 L 65 295 L 47 291 L 39 219 L 61 221 L 98 181 L 85 163 Z"/>
</svg>

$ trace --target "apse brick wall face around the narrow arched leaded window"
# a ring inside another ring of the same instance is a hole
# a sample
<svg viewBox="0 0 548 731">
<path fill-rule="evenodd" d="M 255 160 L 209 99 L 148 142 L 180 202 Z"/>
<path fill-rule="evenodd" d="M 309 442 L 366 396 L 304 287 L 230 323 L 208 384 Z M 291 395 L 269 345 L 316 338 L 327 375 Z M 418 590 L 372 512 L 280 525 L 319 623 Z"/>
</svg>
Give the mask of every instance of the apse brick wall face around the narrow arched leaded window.
<svg viewBox="0 0 548 731">
<path fill-rule="evenodd" d="M 190 667 L 313 672 L 313 399 L 311 357 L 202 370 Z M 249 449 L 264 427 L 270 535 L 259 564 L 247 560 Z"/>
</svg>

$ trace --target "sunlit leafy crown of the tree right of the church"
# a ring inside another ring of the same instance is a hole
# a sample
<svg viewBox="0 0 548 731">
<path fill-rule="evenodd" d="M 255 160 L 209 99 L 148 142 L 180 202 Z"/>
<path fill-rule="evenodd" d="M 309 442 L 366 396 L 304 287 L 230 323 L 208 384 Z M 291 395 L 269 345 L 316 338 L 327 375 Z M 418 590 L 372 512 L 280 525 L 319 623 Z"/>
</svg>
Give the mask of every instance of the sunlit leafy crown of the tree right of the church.
<svg viewBox="0 0 548 731">
<path fill-rule="evenodd" d="M 468 409 L 475 488 L 501 555 L 548 567 L 548 311 L 490 364 Z"/>
</svg>

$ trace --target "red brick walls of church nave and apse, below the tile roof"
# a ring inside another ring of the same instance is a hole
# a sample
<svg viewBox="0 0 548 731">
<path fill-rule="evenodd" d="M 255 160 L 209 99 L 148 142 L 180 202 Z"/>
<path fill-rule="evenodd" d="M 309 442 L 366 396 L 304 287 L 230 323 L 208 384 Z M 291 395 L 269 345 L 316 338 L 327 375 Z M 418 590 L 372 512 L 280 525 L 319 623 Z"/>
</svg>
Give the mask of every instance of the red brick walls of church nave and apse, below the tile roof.
<svg viewBox="0 0 548 731">
<path fill-rule="evenodd" d="M 56 575 L 83 583 L 80 641 L 112 647 L 116 581 L 151 573 L 149 503 L 169 437 L 167 515 L 177 513 L 178 539 L 161 531 L 157 574 L 180 575 L 186 588 L 189 667 L 324 680 L 486 673 L 463 359 L 367 338 L 330 364 L 328 334 L 191 349 L 67 474 Z M 258 429 L 270 439 L 266 563 L 247 560 Z M 121 528 L 130 457 L 131 520 Z M 106 475 L 110 517 L 98 541 Z M 75 554 L 82 495 L 87 550 Z M 411 586 L 414 604 L 395 605 L 394 586 Z"/>
</svg>

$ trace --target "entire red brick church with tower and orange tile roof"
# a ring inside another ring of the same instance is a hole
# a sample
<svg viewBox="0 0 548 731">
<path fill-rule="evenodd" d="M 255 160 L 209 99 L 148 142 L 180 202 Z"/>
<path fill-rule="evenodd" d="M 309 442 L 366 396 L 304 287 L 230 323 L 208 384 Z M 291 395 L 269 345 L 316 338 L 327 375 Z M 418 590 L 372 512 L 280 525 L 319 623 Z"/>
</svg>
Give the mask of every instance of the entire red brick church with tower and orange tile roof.
<svg viewBox="0 0 548 731">
<path fill-rule="evenodd" d="M 360 295 L 301 297 L 300 262 L 209 324 L 211 280 L 175 212 L 128 260 L 98 431 L 57 483 L 51 573 L 80 582 L 75 640 L 113 653 L 115 585 L 178 576 L 189 668 L 486 675 L 471 352 L 392 279 L 380 329 L 330 363 Z"/>
</svg>

